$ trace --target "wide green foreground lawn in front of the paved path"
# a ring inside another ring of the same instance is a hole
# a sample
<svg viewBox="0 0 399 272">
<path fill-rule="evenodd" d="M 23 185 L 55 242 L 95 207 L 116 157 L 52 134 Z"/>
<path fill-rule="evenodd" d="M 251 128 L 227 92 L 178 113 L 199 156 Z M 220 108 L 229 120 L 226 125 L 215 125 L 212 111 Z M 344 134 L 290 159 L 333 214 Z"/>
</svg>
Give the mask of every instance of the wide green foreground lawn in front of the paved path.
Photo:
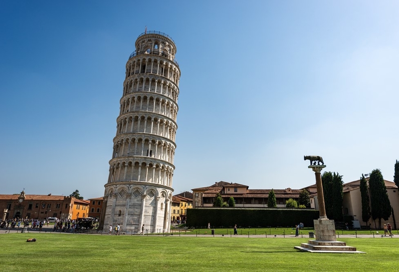
<svg viewBox="0 0 399 272">
<path fill-rule="evenodd" d="M 26 243 L 36 238 L 37 242 Z M 294 250 L 308 238 L 1 234 L 0 271 L 394 271 L 398 239 L 342 238 L 367 254 Z"/>
</svg>

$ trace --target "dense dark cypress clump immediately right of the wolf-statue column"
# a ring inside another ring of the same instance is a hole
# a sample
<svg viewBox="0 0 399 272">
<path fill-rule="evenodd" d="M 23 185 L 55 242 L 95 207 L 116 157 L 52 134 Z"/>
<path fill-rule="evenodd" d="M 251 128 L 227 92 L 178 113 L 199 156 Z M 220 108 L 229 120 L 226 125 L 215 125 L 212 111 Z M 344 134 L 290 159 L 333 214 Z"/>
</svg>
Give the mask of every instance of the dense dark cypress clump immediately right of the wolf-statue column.
<svg viewBox="0 0 399 272">
<path fill-rule="evenodd" d="M 327 217 L 342 221 L 342 203 L 344 201 L 342 176 L 335 172 L 324 172 L 321 180 Z"/>
</svg>

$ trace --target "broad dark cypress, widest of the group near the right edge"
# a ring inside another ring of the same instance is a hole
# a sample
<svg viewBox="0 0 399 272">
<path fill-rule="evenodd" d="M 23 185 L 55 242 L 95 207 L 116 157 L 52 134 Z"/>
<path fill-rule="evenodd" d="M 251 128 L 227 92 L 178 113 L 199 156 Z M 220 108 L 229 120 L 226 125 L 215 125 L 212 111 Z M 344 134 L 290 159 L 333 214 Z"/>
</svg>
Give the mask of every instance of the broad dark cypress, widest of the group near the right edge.
<svg viewBox="0 0 399 272">
<path fill-rule="evenodd" d="M 371 172 L 369 187 L 371 215 L 373 220 L 378 219 L 378 228 L 381 229 L 381 219 L 388 220 L 391 216 L 391 203 L 380 169 L 375 169 Z"/>
</svg>

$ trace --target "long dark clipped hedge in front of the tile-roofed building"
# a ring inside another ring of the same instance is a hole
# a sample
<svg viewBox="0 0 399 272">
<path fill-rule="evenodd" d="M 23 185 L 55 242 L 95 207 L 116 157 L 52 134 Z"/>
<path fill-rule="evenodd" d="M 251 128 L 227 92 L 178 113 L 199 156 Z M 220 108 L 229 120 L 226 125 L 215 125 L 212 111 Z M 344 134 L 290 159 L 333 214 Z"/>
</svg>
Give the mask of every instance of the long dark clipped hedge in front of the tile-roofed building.
<svg viewBox="0 0 399 272">
<path fill-rule="evenodd" d="M 196 208 L 187 209 L 186 225 L 292 227 L 302 222 L 305 227 L 313 227 L 313 220 L 318 218 L 319 211 L 310 209 Z"/>
</svg>

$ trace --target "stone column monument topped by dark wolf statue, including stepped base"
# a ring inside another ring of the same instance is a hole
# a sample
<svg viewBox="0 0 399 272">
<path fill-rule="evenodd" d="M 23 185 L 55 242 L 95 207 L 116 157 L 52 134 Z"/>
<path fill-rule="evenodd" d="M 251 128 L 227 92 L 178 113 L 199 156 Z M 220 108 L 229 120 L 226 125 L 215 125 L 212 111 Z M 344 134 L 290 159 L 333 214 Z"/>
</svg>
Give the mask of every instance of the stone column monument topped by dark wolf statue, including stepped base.
<svg viewBox="0 0 399 272">
<path fill-rule="evenodd" d="M 309 240 L 294 249 L 317 253 L 364 253 L 357 251 L 354 247 L 348 247 L 345 242 L 337 241 L 334 220 L 329 220 L 324 206 L 323 184 L 321 181 L 321 170 L 326 167 L 320 156 L 304 156 L 304 160 L 310 160 L 311 168 L 316 176 L 317 201 L 319 204 L 319 219 L 313 221 L 316 240 Z"/>
</svg>

